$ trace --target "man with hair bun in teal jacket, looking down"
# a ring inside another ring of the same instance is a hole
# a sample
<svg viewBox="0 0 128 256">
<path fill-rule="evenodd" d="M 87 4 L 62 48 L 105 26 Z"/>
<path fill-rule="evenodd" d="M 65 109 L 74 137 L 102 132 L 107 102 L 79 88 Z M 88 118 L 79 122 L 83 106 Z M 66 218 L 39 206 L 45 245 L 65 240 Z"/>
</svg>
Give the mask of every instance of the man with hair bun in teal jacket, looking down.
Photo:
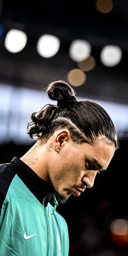
<svg viewBox="0 0 128 256">
<path fill-rule="evenodd" d="M 116 130 L 101 106 L 77 101 L 65 81 L 53 82 L 47 93 L 57 105 L 31 114 L 28 124 L 37 142 L 0 167 L 1 256 L 68 255 L 67 224 L 56 206 L 91 188 L 117 149 Z"/>
</svg>

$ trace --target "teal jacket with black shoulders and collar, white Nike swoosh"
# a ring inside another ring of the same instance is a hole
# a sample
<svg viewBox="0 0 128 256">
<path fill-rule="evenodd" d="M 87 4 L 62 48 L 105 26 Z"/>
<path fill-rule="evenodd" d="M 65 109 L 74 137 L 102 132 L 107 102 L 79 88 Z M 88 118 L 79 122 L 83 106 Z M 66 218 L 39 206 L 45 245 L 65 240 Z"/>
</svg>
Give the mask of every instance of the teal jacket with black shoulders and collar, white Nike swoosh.
<svg viewBox="0 0 128 256">
<path fill-rule="evenodd" d="M 0 255 L 68 256 L 68 228 L 56 206 L 54 189 L 20 159 L 0 165 Z"/>
</svg>

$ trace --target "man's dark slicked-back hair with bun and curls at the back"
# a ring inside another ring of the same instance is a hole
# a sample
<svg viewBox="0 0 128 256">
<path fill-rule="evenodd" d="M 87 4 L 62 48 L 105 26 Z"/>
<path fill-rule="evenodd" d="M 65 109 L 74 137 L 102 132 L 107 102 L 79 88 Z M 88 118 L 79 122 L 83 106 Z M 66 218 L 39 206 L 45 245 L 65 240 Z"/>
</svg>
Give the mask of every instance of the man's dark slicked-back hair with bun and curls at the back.
<svg viewBox="0 0 128 256">
<path fill-rule="evenodd" d="M 49 84 L 47 93 L 57 105 L 48 104 L 31 114 L 32 121 L 27 127 L 30 138 L 37 137 L 46 143 L 55 130 L 67 127 L 76 143 L 94 143 L 102 136 L 117 148 L 116 129 L 103 107 L 93 101 L 77 101 L 73 88 L 62 80 Z"/>
</svg>

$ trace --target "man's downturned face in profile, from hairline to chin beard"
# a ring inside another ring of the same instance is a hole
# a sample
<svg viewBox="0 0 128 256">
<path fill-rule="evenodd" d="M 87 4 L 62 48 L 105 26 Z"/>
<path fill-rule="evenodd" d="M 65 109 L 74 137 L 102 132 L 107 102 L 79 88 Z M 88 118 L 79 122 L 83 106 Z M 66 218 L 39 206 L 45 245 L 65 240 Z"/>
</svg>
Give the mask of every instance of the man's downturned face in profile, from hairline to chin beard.
<svg viewBox="0 0 128 256">
<path fill-rule="evenodd" d="M 115 148 L 101 138 L 93 145 L 76 144 L 69 140 L 50 159 L 49 181 L 55 188 L 58 200 L 65 203 L 70 195 L 79 196 L 92 188 L 95 176 L 110 163 Z"/>
</svg>

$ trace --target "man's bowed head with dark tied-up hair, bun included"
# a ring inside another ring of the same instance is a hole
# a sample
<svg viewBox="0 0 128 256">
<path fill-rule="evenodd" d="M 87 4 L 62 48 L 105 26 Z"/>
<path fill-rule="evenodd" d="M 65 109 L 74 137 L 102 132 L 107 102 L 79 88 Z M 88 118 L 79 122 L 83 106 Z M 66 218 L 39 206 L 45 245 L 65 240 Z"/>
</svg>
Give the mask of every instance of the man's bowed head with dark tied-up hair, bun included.
<svg viewBox="0 0 128 256">
<path fill-rule="evenodd" d="M 77 101 L 73 89 L 63 81 L 47 88 L 56 105 L 46 105 L 31 115 L 31 138 L 46 146 L 47 181 L 60 201 L 91 188 L 97 172 L 106 169 L 117 149 L 117 133 L 103 107 L 92 101 Z"/>
</svg>

